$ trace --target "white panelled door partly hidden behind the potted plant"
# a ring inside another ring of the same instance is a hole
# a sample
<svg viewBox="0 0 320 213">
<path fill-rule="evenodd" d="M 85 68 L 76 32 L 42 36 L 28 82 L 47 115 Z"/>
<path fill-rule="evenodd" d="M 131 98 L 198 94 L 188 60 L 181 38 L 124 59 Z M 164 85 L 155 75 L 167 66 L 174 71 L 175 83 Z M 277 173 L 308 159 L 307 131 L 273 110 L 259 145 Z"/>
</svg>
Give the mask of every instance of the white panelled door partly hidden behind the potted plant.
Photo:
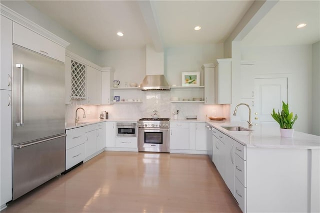
<svg viewBox="0 0 320 213">
<path fill-rule="evenodd" d="M 273 122 L 272 109 L 281 112 L 282 101 L 287 103 L 287 78 L 254 79 L 254 119 Z"/>
</svg>

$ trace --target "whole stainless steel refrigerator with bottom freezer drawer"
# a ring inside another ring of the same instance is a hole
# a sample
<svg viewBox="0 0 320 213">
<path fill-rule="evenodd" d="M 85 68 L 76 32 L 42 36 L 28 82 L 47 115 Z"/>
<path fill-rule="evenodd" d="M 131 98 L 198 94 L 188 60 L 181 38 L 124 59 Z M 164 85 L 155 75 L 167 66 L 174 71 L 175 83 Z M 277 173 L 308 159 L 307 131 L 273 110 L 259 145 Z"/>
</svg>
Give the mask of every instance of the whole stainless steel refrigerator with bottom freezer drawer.
<svg viewBox="0 0 320 213">
<path fill-rule="evenodd" d="M 64 64 L 12 45 L 12 200 L 64 171 Z"/>
</svg>

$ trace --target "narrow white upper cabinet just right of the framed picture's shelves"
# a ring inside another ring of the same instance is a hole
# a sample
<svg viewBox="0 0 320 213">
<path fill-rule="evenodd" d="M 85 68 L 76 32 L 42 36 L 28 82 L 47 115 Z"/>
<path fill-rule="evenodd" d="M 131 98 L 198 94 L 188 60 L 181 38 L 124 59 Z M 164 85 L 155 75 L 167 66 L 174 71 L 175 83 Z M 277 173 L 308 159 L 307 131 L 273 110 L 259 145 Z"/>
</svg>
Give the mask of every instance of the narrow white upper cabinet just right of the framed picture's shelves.
<svg viewBox="0 0 320 213">
<path fill-rule="evenodd" d="M 203 64 L 204 73 L 204 104 L 214 104 L 214 68 L 213 63 Z"/>
</svg>

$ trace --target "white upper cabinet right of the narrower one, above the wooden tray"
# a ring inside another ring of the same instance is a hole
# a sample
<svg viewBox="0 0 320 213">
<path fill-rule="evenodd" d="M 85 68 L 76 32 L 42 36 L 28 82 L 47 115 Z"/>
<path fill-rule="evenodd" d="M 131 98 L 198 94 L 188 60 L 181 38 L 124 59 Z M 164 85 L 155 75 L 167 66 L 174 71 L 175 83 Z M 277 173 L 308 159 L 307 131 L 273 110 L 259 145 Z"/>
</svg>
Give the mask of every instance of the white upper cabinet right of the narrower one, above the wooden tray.
<svg viewBox="0 0 320 213">
<path fill-rule="evenodd" d="M 215 104 L 231 103 L 231 58 L 217 59 L 214 71 Z"/>
</svg>

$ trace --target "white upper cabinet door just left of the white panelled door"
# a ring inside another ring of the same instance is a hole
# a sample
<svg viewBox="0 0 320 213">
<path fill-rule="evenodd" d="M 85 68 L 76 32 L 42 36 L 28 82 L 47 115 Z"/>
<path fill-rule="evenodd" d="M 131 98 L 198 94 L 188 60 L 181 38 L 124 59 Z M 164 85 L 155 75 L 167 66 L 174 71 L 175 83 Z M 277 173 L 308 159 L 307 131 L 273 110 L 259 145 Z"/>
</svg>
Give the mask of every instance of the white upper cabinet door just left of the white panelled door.
<svg viewBox="0 0 320 213">
<path fill-rule="evenodd" d="M 241 61 L 241 99 L 254 98 L 254 61 Z"/>
</svg>

